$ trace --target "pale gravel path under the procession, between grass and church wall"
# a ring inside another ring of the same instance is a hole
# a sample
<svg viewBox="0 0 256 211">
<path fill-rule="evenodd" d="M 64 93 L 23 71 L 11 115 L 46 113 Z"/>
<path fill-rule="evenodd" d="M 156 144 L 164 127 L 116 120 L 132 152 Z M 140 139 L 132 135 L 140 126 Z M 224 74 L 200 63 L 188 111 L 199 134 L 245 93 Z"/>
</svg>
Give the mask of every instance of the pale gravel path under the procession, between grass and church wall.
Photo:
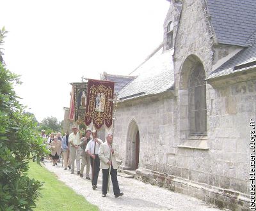
<svg viewBox="0 0 256 211">
<path fill-rule="evenodd" d="M 115 198 L 113 187 L 109 187 L 109 193 L 106 198 L 102 198 L 102 173 L 100 170 L 98 188 L 93 191 L 91 180 L 81 178 L 70 170 L 63 170 L 60 163 L 58 166 L 52 166 L 50 161 L 45 161 L 45 168 L 54 172 L 58 179 L 67 184 L 81 194 L 90 203 L 97 205 L 100 210 L 196 210 L 196 211 L 213 211 L 220 210 L 213 205 L 208 205 L 204 201 L 197 200 L 190 196 L 179 193 L 173 193 L 166 189 L 145 184 L 134 178 L 125 178 L 118 176 L 118 182 L 121 192 L 124 196 Z M 76 168 L 75 168 L 76 170 Z M 111 184 L 111 183 L 110 183 Z"/>
</svg>

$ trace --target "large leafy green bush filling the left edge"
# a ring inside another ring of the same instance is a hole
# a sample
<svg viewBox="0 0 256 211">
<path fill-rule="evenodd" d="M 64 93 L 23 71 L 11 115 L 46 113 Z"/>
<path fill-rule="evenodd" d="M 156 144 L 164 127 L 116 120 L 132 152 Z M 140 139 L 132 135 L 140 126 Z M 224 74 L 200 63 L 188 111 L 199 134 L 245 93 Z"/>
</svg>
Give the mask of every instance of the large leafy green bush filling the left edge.
<svg viewBox="0 0 256 211">
<path fill-rule="evenodd" d="M 4 30 L 0 31 L 0 44 Z M 28 163 L 47 152 L 36 131 L 35 117 L 24 112 L 13 90 L 20 84 L 0 61 L 0 210 L 32 210 L 42 183 L 26 176 Z"/>
</svg>

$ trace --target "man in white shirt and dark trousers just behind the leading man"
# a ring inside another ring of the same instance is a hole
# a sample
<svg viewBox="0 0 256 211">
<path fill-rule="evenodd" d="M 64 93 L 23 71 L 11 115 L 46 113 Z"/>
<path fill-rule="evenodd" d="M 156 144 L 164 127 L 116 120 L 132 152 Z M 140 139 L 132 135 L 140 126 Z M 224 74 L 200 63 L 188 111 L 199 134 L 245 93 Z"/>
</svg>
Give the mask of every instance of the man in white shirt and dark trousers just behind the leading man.
<svg viewBox="0 0 256 211">
<path fill-rule="evenodd" d="M 97 138 L 97 131 L 92 131 L 92 140 L 88 142 L 86 146 L 86 152 L 91 156 L 91 166 L 92 166 L 92 189 L 97 188 L 98 176 L 100 171 L 100 159 L 99 159 L 99 148 L 100 144 L 103 143 L 102 140 Z"/>
</svg>

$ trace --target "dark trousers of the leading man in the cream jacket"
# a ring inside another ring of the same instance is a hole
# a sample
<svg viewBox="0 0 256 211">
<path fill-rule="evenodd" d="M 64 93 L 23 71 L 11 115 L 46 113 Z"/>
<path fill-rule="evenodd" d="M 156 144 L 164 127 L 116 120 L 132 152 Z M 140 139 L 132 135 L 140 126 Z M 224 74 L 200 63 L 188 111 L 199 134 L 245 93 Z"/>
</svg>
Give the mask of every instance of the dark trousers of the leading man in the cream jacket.
<svg viewBox="0 0 256 211">
<path fill-rule="evenodd" d="M 107 194 L 108 191 L 108 169 L 102 169 L 102 194 Z M 113 169 L 113 166 L 111 165 L 111 180 L 113 185 L 113 191 L 115 195 L 120 194 L 120 189 L 117 181 L 117 170 Z"/>
</svg>

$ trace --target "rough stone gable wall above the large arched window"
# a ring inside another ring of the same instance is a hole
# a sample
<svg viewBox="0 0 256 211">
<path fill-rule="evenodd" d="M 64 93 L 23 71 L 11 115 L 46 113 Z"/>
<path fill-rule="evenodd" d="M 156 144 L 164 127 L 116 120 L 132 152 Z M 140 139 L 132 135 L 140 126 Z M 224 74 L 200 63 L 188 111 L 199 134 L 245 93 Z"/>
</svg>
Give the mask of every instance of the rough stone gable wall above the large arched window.
<svg viewBox="0 0 256 211">
<path fill-rule="evenodd" d="M 173 55 L 177 88 L 179 88 L 179 74 L 182 64 L 189 55 L 196 55 L 202 61 L 205 76 L 211 73 L 214 43 L 214 31 L 211 22 L 209 22 L 205 1 L 183 1 Z"/>
</svg>

